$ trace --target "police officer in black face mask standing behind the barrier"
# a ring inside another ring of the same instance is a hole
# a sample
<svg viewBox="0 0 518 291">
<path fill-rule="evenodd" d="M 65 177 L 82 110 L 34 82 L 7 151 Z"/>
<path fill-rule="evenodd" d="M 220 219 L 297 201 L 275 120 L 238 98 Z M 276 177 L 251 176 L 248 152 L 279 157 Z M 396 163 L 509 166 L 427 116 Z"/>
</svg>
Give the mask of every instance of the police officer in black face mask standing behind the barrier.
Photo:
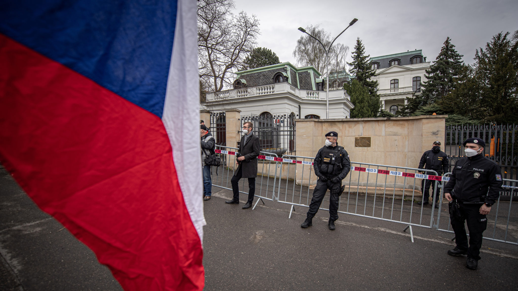
<svg viewBox="0 0 518 291">
<path fill-rule="evenodd" d="M 448 156 L 441 152 L 441 142 L 436 140 L 434 141 L 433 147 L 431 150 L 424 152 L 421 157 L 421 161 L 419 162 L 420 169 L 434 170 L 437 172 L 439 176 L 442 176 L 443 173 L 448 172 Z M 429 172 L 426 172 L 430 174 Z M 439 194 L 436 191 L 437 184 L 441 184 L 441 181 L 435 182 L 434 180 L 423 180 L 421 181 L 421 191 L 423 192 L 422 201 L 418 202 L 419 205 L 428 205 L 428 196 L 430 196 L 430 185 L 432 187 L 432 193 L 436 193 L 435 195 L 435 208 L 439 208 Z M 432 194 L 433 196 L 433 194 Z"/>
</svg>

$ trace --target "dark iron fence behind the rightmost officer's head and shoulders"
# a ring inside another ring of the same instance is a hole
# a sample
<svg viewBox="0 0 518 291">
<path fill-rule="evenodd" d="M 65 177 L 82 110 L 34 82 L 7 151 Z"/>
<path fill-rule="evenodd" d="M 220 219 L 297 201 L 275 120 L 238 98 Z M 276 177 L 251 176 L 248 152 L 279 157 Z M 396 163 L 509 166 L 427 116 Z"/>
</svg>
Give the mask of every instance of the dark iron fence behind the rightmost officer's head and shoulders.
<svg viewBox="0 0 518 291">
<path fill-rule="evenodd" d="M 484 155 L 502 169 L 504 179 L 516 180 L 518 171 L 518 125 L 456 124 L 445 130 L 444 152 L 450 161 L 450 171 L 457 159 L 464 156 L 464 140 L 478 137 L 485 142 Z"/>
</svg>

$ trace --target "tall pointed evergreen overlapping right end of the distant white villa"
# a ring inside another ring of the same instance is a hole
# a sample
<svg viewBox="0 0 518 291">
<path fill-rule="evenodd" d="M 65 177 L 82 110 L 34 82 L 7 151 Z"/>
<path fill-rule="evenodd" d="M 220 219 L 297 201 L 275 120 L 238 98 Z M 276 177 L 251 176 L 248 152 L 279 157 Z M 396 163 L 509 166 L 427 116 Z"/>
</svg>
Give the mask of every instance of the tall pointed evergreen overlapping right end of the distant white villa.
<svg viewBox="0 0 518 291">
<path fill-rule="evenodd" d="M 450 37 L 446 38 L 434 64 L 430 69 L 425 70 L 427 80 L 421 85 L 423 91 L 421 106 L 432 104 L 452 92 L 455 78 L 462 74 L 463 55 L 457 53 L 450 40 Z"/>
</svg>

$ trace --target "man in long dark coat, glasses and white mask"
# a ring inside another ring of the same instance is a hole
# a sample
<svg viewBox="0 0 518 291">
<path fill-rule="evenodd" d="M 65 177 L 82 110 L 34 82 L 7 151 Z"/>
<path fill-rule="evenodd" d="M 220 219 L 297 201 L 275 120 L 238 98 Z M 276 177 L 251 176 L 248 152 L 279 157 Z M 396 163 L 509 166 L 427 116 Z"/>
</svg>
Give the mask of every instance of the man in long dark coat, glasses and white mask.
<svg viewBox="0 0 518 291">
<path fill-rule="evenodd" d="M 243 137 L 239 143 L 239 154 L 237 162 L 239 166 L 232 177 L 232 192 L 234 198 L 225 201 L 228 204 L 239 204 L 239 180 L 248 178 L 248 201 L 243 209 L 250 208 L 254 201 L 255 194 L 255 178 L 257 177 L 257 156 L 260 152 L 259 138 L 252 133 L 252 123 L 245 122 L 243 124 Z"/>
</svg>

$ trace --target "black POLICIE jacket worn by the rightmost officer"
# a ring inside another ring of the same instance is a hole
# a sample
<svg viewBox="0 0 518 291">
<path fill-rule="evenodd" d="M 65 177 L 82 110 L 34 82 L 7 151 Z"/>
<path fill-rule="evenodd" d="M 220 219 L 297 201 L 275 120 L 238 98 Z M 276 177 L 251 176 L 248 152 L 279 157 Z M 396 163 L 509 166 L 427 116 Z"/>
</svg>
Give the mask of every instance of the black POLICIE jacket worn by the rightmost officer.
<svg viewBox="0 0 518 291">
<path fill-rule="evenodd" d="M 444 193 L 462 202 L 494 204 L 503 191 L 501 173 L 500 166 L 482 154 L 463 157 L 455 163 Z"/>
</svg>

